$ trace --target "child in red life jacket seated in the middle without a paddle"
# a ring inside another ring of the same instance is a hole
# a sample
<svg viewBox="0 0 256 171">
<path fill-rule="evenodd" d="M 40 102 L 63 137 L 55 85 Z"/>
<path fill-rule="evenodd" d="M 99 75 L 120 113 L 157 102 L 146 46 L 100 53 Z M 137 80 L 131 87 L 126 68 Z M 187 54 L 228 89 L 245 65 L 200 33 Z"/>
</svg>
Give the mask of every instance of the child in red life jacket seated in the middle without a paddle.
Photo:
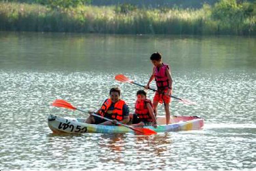
<svg viewBox="0 0 256 171">
<path fill-rule="evenodd" d="M 144 90 L 137 91 L 135 112 L 131 114 L 132 126 L 154 126 L 157 127 L 156 116 L 150 99 L 146 99 L 147 94 Z"/>
</svg>

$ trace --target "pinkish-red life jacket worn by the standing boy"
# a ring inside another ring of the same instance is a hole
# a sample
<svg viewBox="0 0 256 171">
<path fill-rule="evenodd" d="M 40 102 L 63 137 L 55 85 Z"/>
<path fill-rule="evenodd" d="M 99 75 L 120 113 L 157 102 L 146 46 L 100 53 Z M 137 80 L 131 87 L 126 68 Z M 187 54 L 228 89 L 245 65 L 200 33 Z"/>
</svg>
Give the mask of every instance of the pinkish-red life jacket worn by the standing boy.
<svg viewBox="0 0 256 171">
<path fill-rule="evenodd" d="M 169 79 L 166 75 L 166 69 L 170 69 L 169 65 L 162 63 L 163 65 L 160 66 L 159 71 L 157 67 L 155 67 L 155 81 L 156 81 L 156 86 L 157 90 L 165 90 L 168 89 L 169 87 Z"/>
</svg>

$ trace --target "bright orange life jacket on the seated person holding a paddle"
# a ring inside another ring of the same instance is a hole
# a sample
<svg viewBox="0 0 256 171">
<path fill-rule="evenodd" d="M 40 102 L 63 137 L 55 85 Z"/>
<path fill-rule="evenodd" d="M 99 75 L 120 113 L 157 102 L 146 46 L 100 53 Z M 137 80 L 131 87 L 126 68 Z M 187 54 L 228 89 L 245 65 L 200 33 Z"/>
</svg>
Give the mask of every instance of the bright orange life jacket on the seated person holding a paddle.
<svg viewBox="0 0 256 171">
<path fill-rule="evenodd" d="M 100 115 L 104 116 L 106 112 L 108 111 L 109 107 L 112 104 L 112 100 L 108 98 L 105 103 L 101 106 Z M 114 110 L 112 110 L 111 119 L 115 119 L 117 121 L 123 121 L 123 106 L 125 104 L 124 100 L 118 100 L 118 102 L 115 103 Z"/>
</svg>

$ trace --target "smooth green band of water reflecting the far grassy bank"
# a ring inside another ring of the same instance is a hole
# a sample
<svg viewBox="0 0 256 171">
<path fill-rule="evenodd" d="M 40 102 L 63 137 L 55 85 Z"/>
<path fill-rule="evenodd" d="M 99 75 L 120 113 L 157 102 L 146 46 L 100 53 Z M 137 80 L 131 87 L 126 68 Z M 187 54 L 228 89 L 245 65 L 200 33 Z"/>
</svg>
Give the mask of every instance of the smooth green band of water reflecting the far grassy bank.
<svg viewBox="0 0 256 171">
<path fill-rule="evenodd" d="M 256 38 L 241 36 L 95 35 L 0 32 L 1 69 L 146 73 L 160 51 L 173 74 L 251 69 Z"/>
</svg>

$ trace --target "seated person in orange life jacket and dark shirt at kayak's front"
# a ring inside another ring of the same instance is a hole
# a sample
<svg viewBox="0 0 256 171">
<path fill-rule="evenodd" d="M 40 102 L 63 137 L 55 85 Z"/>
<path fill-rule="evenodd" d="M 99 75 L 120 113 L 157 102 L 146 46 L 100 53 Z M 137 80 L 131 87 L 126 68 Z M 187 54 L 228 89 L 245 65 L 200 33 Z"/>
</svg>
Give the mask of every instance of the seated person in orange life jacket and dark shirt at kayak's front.
<svg viewBox="0 0 256 171">
<path fill-rule="evenodd" d="M 120 89 L 112 88 L 109 92 L 110 98 L 107 98 L 102 107 L 96 112 L 99 116 L 113 120 L 107 121 L 101 117 L 90 115 L 85 123 L 88 124 L 99 124 L 99 125 L 116 125 L 116 122 L 126 124 L 129 122 L 129 107 L 125 101 L 120 99 Z M 89 111 L 89 114 L 94 113 Z"/>
</svg>

